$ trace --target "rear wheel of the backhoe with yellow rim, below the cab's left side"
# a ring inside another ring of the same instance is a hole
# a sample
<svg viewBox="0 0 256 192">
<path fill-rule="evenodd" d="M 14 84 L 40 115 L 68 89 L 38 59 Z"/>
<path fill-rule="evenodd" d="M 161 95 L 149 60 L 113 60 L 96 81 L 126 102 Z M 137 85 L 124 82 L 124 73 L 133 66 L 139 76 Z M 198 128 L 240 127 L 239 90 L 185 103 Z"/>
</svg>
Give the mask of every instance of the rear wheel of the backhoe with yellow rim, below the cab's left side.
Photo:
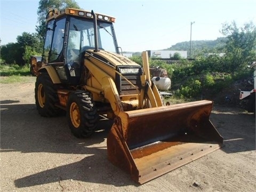
<svg viewBox="0 0 256 192">
<path fill-rule="evenodd" d="M 36 78 L 35 100 L 38 113 L 43 117 L 53 117 L 59 114 L 60 109 L 55 106 L 59 103 L 57 91 L 54 89 L 52 79 L 46 73 Z"/>
</svg>

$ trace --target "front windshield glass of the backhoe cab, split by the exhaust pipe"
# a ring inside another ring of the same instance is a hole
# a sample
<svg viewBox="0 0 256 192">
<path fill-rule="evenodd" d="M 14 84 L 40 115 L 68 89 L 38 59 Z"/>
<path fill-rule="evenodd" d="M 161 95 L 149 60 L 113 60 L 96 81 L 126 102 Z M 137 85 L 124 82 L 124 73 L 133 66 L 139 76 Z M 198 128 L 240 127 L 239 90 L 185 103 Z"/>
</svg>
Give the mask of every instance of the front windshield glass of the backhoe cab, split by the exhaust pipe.
<svg viewBox="0 0 256 192">
<path fill-rule="evenodd" d="M 116 52 L 112 23 L 98 21 L 98 42 L 99 49 Z M 70 18 L 68 50 L 79 54 L 94 47 L 93 21 Z"/>
</svg>

